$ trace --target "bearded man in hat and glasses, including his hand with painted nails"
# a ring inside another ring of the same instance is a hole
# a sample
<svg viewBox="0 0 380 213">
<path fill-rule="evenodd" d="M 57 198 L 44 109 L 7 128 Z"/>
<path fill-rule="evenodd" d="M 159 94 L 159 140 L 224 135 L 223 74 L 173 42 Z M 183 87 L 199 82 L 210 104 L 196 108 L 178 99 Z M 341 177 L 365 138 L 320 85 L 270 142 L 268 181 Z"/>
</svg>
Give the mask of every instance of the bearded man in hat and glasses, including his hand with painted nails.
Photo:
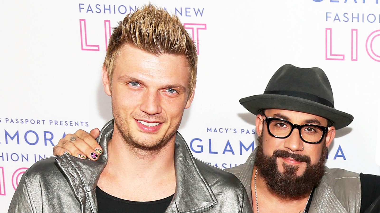
<svg viewBox="0 0 380 213">
<path fill-rule="evenodd" d="M 240 103 L 256 115 L 259 144 L 244 164 L 226 171 L 241 180 L 254 212 L 380 212 L 380 176 L 325 166 L 336 130 L 349 125 L 353 116 L 334 108 L 323 70 L 285 64 L 264 94 Z M 96 146 L 88 133 L 81 134 L 83 140 L 76 144 L 60 141 L 54 154 L 86 153 Z M 92 130 L 91 135 L 98 133 Z"/>
</svg>

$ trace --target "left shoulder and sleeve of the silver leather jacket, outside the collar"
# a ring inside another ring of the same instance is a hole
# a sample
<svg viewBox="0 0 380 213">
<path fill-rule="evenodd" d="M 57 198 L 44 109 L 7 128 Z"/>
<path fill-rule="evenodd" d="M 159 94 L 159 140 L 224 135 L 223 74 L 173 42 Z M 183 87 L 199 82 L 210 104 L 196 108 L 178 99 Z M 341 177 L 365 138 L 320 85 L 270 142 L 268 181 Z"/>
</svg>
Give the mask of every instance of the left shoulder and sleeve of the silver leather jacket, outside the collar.
<svg viewBox="0 0 380 213">
<path fill-rule="evenodd" d="M 33 208 L 33 212 L 74 212 L 80 208 L 56 158 L 44 158 L 25 171 L 9 212 L 31 212 L 29 208 Z"/>
</svg>

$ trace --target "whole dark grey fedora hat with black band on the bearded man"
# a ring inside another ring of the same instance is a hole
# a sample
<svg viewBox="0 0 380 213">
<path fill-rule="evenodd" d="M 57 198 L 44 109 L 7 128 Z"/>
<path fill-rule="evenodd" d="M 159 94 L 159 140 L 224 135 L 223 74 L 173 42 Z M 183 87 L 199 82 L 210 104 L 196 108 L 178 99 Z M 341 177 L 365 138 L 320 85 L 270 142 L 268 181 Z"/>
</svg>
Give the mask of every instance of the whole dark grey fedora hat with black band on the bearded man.
<svg viewBox="0 0 380 213">
<path fill-rule="evenodd" d="M 300 111 L 325 117 L 336 129 L 346 127 L 354 119 L 334 108 L 330 82 L 318 67 L 300 68 L 285 64 L 269 80 L 264 94 L 239 101 L 255 115 L 263 109 Z"/>
</svg>

